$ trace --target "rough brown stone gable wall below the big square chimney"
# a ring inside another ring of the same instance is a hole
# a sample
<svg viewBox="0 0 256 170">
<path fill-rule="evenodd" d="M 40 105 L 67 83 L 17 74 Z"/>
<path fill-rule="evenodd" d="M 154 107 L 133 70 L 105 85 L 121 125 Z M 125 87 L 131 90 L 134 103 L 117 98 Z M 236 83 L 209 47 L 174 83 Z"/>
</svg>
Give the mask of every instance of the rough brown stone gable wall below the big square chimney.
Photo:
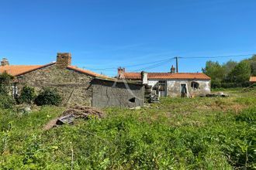
<svg viewBox="0 0 256 170">
<path fill-rule="evenodd" d="M 56 88 L 63 97 L 63 104 L 92 105 L 91 81 L 93 77 L 74 70 L 60 69 L 57 65 L 47 66 L 18 76 L 18 90 L 28 85 L 39 92 L 43 87 Z"/>
</svg>

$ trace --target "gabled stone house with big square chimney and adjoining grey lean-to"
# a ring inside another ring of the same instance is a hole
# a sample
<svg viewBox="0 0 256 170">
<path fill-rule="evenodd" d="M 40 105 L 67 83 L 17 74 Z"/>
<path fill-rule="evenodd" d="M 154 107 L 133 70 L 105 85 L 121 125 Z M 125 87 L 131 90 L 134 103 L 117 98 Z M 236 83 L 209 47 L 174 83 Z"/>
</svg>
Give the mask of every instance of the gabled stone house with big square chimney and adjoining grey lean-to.
<svg viewBox="0 0 256 170">
<path fill-rule="evenodd" d="M 61 94 L 64 105 L 93 107 L 137 107 L 143 105 L 143 102 L 138 101 L 138 99 L 130 102 L 132 97 L 129 94 L 121 95 L 128 91 L 123 86 L 111 86 L 107 88 L 108 93 L 106 91 L 100 93 L 100 90 L 106 90 L 106 81 L 116 84 L 118 80 L 80 69 L 77 66 L 71 66 L 71 53 L 57 53 L 56 62 L 36 66 L 9 65 L 7 59 L 2 59 L 0 73 L 3 72 L 15 77 L 12 84 L 14 97 L 19 96 L 24 86 L 34 87 L 36 92 L 44 87 L 51 87 L 56 88 Z M 96 79 L 97 81 L 95 81 Z M 133 83 L 129 84 L 133 86 Z M 140 98 L 141 93 L 144 93 L 143 85 L 137 84 L 134 87 L 132 92 Z M 120 100 L 121 103 L 111 103 L 108 98 L 111 96 L 109 93 L 116 97 L 121 95 L 124 99 Z M 97 96 L 98 94 L 102 98 Z"/>
</svg>

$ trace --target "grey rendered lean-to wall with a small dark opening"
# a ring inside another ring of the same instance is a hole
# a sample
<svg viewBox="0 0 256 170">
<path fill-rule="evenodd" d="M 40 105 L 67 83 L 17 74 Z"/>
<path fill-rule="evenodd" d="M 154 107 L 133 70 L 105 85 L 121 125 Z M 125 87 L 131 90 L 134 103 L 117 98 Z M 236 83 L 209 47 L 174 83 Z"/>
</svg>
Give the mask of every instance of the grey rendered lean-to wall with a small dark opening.
<svg viewBox="0 0 256 170">
<path fill-rule="evenodd" d="M 142 84 L 95 79 L 92 80 L 92 89 L 92 107 L 144 106 Z"/>
</svg>

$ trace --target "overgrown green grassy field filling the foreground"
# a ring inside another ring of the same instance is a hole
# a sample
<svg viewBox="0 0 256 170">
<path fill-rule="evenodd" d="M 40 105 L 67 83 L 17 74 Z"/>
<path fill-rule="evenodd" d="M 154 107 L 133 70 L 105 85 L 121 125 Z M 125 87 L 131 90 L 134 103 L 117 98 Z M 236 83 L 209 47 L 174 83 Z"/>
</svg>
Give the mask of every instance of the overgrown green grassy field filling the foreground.
<svg viewBox="0 0 256 170">
<path fill-rule="evenodd" d="M 0 169 L 255 169 L 256 90 L 164 98 L 43 131 L 62 107 L 0 113 Z"/>
</svg>

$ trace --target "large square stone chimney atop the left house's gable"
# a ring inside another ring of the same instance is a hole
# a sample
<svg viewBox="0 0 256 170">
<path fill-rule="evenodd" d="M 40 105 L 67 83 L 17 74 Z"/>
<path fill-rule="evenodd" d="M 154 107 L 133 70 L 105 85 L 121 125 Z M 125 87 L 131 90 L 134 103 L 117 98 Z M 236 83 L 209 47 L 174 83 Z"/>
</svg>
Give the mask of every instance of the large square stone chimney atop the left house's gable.
<svg viewBox="0 0 256 170">
<path fill-rule="evenodd" d="M 71 53 L 57 53 L 56 66 L 60 69 L 65 69 L 71 66 Z"/>
</svg>

